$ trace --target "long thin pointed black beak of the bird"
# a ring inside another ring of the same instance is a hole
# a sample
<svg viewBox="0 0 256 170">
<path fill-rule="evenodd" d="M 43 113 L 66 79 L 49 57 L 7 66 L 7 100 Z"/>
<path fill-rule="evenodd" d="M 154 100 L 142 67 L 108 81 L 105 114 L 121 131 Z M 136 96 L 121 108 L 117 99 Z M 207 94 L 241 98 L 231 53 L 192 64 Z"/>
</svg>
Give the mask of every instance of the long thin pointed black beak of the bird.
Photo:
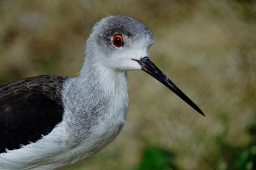
<svg viewBox="0 0 256 170">
<path fill-rule="evenodd" d="M 198 108 L 198 106 L 196 106 L 196 104 L 193 103 L 193 101 L 191 101 L 191 99 L 189 99 L 189 97 L 186 96 L 186 94 L 184 94 L 159 68 L 157 68 L 157 66 L 152 61 L 150 61 L 148 57 L 143 57 L 140 60 L 136 61 L 139 62 L 143 71 L 147 72 L 158 81 L 163 83 L 166 87 L 168 87 L 168 89 L 172 90 L 175 94 L 177 94 L 177 96 L 179 96 L 186 103 L 188 103 L 189 106 L 194 108 L 201 115 L 205 116 L 204 112 L 200 110 L 200 108 Z"/>
</svg>

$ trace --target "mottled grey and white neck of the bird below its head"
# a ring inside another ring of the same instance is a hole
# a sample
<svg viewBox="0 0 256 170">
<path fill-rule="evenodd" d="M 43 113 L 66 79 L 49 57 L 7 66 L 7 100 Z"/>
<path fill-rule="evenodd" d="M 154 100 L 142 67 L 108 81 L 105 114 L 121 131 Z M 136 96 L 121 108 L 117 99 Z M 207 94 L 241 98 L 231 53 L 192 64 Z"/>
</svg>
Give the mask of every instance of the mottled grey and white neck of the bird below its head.
<svg viewBox="0 0 256 170">
<path fill-rule="evenodd" d="M 127 73 L 93 62 L 90 57 L 84 61 L 79 76 L 66 83 L 63 94 L 67 108 L 63 119 L 76 141 L 88 138 L 93 132 L 86 129 L 92 125 L 104 124 L 105 129 L 123 125 L 128 109 Z M 81 127 L 84 134 L 74 133 Z"/>
</svg>

